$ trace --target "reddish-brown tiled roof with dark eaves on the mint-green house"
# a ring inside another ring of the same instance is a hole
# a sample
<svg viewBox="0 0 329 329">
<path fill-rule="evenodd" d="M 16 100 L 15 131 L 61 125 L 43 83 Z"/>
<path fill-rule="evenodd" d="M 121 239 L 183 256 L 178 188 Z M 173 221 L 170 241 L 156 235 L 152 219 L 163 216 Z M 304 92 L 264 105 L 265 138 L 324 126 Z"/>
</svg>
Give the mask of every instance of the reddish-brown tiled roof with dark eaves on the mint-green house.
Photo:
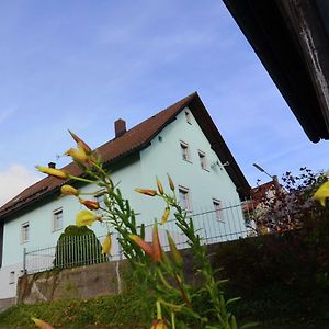
<svg viewBox="0 0 329 329">
<path fill-rule="evenodd" d="M 124 157 L 132 155 L 133 152 L 144 149 L 149 146 L 151 139 L 157 136 L 168 124 L 174 121 L 175 116 L 186 106 L 189 106 L 200 126 L 204 131 L 212 145 L 212 148 L 217 154 L 220 161 L 223 163 L 226 161 L 229 162 L 230 166 L 226 167 L 226 170 L 236 184 L 237 191 L 240 193 L 240 195 L 248 194 L 250 186 L 246 178 L 240 171 L 196 92 L 188 95 L 181 101 L 131 128 L 123 136 L 103 144 L 95 150 L 106 164 L 111 164 Z M 82 174 L 80 168 L 73 162 L 67 164 L 63 169 L 69 171 L 72 175 Z M 61 184 L 64 184 L 63 180 L 54 177 L 47 177 L 29 186 L 0 208 L 0 220 L 4 217 L 13 215 L 18 211 L 21 211 L 43 198 L 53 195 L 54 192 L 59 190 Z"/>
</svg>

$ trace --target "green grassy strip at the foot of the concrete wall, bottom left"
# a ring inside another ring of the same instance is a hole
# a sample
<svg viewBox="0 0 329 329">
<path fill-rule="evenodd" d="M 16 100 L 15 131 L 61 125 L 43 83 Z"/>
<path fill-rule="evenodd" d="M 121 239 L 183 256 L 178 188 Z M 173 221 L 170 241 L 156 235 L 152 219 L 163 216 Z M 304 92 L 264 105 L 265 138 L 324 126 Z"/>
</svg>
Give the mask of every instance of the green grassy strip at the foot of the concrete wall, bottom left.
<svg viewBox="0 0 329 329">
<path fill-rule="evenodd" d="M 148 328 L 151 319 L 127 294 L 82 299 L 58 299 L 34 305 L 16 305 L 0 314 L 0 328 L 36 328 L 31 317 L 56 329 Z"/>
</svg>

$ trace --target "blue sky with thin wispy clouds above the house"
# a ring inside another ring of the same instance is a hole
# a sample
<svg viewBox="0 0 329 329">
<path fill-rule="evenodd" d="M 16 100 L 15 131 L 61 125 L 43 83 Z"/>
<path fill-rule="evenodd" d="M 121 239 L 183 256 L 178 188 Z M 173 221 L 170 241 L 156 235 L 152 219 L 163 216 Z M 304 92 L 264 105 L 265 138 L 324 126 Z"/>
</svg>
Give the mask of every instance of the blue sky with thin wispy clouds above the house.
<svg viewBox="0 0 329 329">
<path fill-rule="evenodd" d="M 65 160 L 197 91 L 251 185 L 328 169 L 220 0 L 0 1 L 0 205 Z"/>
</svg>

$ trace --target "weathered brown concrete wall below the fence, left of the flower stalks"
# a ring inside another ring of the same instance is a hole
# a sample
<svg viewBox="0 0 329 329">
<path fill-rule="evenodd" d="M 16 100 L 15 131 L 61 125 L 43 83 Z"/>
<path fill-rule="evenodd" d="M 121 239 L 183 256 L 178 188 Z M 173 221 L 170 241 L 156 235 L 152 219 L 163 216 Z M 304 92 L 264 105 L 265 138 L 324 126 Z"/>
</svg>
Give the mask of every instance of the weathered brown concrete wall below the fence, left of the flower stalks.
<svg viewBox="0 0 329 329">
<path fill-rule="evenodd" d="M 18 284 L 18 303 L 34 304 L 58 298 L 117 294 L 122 286 L 124 265 L 124 261 L 115 261 L 23 275 Z"/>
</svg>

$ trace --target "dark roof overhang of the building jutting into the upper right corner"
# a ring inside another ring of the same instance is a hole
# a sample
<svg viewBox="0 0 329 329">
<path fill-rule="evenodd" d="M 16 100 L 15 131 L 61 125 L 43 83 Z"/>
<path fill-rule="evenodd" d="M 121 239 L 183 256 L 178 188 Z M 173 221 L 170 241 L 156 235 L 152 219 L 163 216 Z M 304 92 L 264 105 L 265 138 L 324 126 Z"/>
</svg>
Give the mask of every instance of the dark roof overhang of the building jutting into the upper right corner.
<svg viewBox="0 0 329 329">
<path fill-rule="evenodd" d="M 223 1 L 308 138 L 329 139 L 329 1 Z"/>
</svg>

